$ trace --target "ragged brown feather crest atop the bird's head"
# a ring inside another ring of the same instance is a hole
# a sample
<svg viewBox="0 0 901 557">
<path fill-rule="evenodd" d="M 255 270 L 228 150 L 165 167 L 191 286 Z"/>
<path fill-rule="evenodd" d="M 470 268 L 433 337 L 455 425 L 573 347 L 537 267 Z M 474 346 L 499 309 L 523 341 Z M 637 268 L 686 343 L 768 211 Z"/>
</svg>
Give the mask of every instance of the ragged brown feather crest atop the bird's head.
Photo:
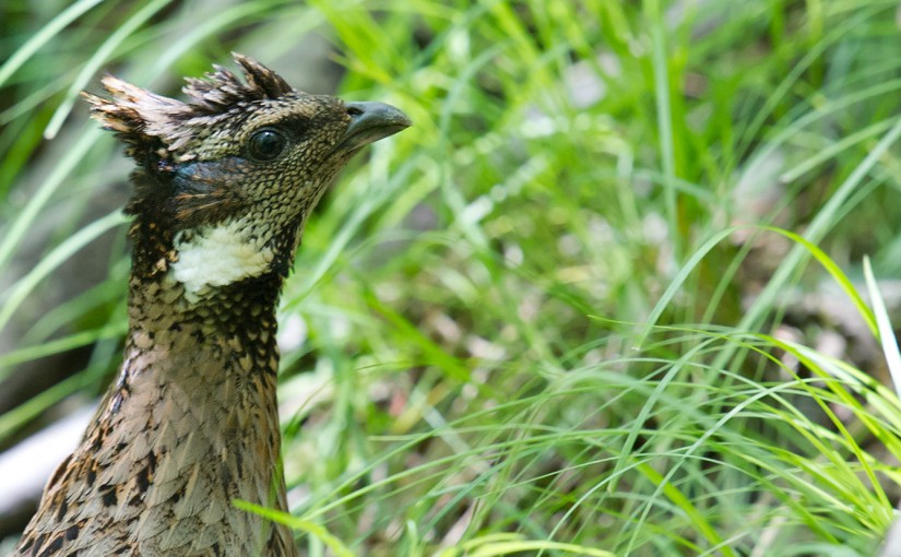
<svg viewBox="0 0 901 557">
<path fill-rule="evenodd" d="M 188 102 L 151 93 L 112 75 L 103 79 L 111 98 L 90 93 L 82 96 L 91 105 L 92 117 L 128 144 L 130 156 L 140 159 L 147 152 L 156 152 L 166 159 L 233 109 L 294 91 L 281 75 L 257 60 L 237 52 L 232 56 L 244 70 L 244 81 L 214 66 L 215 71 L 203 79 L 187 80 L 182 92 Z M 180 159 L 186 158 L 190 155 Z"/>
</svg>

